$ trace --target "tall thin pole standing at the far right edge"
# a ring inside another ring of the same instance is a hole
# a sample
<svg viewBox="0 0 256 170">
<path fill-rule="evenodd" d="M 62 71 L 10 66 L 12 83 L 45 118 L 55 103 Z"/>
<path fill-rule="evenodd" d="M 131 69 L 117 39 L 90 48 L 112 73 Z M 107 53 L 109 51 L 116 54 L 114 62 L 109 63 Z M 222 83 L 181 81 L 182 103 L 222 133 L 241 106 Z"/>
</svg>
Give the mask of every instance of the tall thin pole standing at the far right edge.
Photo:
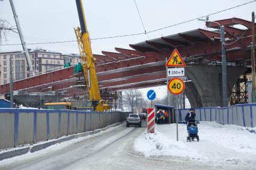
<svg viewBox="0 0 256 170">
<path fill-rule="evenodd" d="M 252 11 L 252 103 L 255 103 L 255 15 L 254 11 Z"/>
</svg>

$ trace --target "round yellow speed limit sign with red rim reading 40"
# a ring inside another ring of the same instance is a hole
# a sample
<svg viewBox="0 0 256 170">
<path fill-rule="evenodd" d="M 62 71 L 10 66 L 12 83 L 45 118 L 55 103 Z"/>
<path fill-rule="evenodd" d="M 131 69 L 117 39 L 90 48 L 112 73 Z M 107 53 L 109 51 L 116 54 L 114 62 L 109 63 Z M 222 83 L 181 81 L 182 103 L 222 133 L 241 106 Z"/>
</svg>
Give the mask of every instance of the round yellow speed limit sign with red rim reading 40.
<svg viewBox="0 0 256 170">
<path fill-rule="evenodd" d="M 181 78 L 172 78 L 168 83 L 168 89 L 173 95 L 179 95 L 185 89 L 185 83 Z"/>
</svg>

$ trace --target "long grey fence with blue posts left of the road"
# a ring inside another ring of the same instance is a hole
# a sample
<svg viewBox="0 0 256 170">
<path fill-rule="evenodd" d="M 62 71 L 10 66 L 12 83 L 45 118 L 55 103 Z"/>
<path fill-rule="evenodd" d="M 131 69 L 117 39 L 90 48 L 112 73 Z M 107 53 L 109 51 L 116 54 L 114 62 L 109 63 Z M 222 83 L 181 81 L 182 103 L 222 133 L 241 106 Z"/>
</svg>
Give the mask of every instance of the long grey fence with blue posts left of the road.
<svg viewBox="0 0 256 170">
<path fill-rule="evenodd" d="M 105 128 L 129 113 L 0 109 L 0 150 Z"/>
</svg>

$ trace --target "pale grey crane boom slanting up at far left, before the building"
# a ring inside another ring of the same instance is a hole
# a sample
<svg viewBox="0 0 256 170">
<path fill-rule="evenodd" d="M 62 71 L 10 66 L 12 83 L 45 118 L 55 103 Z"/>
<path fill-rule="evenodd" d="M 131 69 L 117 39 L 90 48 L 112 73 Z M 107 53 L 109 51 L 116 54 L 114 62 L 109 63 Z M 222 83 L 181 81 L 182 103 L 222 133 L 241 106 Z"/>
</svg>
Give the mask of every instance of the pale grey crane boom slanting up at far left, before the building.
<svg viewBox="0 0 256 170">
<path fill-rule="evenodd" d="M 16 10 L 14 8 L 13 0 L 10 0 L 10 4 L 11 4 L 11 10 L 13 10 L 13 16 L 14 16 L 14 20 L 16 22 L 17 30 L 19 32 L 20 41 L 22 43 L 22 48 L 23 48 L 23 51 L 25 51 L 26 62 L 28 63 L 28 67 L 29 67 L 29 77 L 32 77 L 32 76 L 35 75 L 35 72 L 33 70 L 31 60 L 29 58 L 28 48 L 26 48 L 26 42 L 24 41 L 24 37 L 23 37 L 23 34 L 22 34 L 22 29 L 20 27 L 19 19 L 18 19 L 18 16 L 16 14 Z"/>
</svg>

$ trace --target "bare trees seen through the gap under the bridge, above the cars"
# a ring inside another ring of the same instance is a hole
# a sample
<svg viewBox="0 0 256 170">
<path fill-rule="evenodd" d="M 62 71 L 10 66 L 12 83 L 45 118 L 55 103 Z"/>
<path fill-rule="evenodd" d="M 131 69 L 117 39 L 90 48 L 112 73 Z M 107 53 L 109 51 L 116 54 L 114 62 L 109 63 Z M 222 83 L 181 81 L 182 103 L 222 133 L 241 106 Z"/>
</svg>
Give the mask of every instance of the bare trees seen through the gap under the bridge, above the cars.
<svg viewBox="0 0 256 170">
<path fill-rule="evenodd" d="M 124 92 L 124 100 L 133 112 L 136 107 L 143 108 L 146 105 L 145 99 L 142 98 L 141 92 L 138 90 L 127 90 Z"/>
</svg>

